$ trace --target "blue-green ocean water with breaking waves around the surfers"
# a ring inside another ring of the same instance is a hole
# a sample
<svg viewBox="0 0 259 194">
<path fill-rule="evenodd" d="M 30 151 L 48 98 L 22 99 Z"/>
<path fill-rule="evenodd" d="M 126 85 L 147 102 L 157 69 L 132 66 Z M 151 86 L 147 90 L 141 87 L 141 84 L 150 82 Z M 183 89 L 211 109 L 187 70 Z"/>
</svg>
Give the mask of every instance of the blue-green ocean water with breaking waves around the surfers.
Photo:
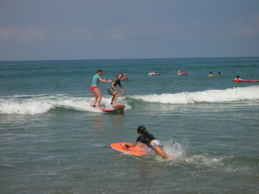
<svg viewBox="0 0 259 194">
<path fill-rule="evenodd" d="M 124 111 L 91 107 L 98 69 L 127 74 Z M 259 57 L 1 61 L 0 192 L 259 193 L 259 82 L 232 81 L 258 72 Z M 140 125 L 178 159 L 110 147 Z"/>
</svg>

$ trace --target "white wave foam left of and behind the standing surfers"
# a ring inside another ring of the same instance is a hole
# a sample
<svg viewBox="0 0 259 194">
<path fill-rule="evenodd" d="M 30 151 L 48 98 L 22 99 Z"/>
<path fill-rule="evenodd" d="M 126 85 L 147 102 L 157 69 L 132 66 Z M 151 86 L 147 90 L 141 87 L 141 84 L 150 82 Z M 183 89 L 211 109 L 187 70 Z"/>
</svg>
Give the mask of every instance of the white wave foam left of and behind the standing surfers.
<svg viewBox="0 0 259 194">
<path fill-rule="evenodd" d="M 79 111 L 100 112 L 93 108 L 94 97 L 73 96 L 69 94 L 42 94 L 9 96 L 0 98 L 0 113 L 2 114 L 44 114 L 57 107 Z M 108 108 L 110 99 L 102 99 L 101 106 Z"/>
</svg>

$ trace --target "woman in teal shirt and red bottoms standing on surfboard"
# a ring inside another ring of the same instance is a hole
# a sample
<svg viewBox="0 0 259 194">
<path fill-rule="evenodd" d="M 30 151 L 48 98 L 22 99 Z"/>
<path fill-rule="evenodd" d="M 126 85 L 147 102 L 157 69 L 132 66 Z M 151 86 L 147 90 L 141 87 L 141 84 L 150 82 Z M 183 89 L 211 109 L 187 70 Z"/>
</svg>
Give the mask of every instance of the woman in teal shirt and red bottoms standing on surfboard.
<svg viewBox="0 0 259 194">
<path fill-rule="evenodd" d="M 94 107 L 96 107 L 96 102 L 98 100 L 98 103 L 97 103 L 97 108 L 98 109 L 101 109 L 100 108 L 100 104 L 101 104 L 101 101 L 102 101 L 102 95 L 101 95 L 101 92 L 99 91 L 98 89 L 98 83 L 99 82 L 111 82 L 112 80 L 110 81 L 106 81 L 105 80 L 105 77 L 104 79 L 101 79 L 101 75 L 102 75 L 103 71 L 101 69 L 97 70 L 96 74 L 94 75 L 93 77 L 93 81 L 92 81 L 92 85 L 91 85 L 91 91 L 93 92 L 94 96 L 95 96 L 95 100 L 94 100 Z M 99 98 L 99 99 L 98 99 Z"/>
</svg>

